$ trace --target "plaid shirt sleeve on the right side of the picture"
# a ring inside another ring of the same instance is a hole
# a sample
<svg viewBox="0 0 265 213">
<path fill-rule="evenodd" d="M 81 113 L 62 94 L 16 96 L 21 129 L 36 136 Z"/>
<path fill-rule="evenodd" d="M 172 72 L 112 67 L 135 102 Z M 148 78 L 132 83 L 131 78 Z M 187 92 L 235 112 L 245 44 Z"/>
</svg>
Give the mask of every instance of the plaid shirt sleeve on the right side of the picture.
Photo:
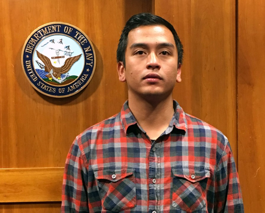
<svg viewBox="0 0 265 213">
<path fill-rule="evenodd" d="M 214 212 L 243 213 L 238 172 L 229 142 L 215 173 Z"/>
</svg>

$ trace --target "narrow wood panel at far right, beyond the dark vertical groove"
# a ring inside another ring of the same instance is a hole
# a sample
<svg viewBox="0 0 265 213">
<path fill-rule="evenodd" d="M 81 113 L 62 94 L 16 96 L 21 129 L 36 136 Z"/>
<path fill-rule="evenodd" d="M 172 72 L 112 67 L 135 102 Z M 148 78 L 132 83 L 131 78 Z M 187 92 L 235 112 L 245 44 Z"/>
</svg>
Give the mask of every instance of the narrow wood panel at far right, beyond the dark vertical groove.
<svg viewBox="0 0 265 213">
<path fill-rule="evenodd" d="M 264 1 L 238 1 L 238 170 L 245 212 L 265 211 L 264 14 Z"/>
</svg>

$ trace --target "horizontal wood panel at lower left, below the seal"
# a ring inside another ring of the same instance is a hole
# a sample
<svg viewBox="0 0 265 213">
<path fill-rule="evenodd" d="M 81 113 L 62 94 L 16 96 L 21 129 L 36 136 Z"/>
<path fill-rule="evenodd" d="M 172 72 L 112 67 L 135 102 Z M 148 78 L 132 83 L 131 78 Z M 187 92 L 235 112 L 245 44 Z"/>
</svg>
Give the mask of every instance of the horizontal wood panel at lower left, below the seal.
<svg viewBox="0 0 265 213">
<path fill-rule="evenodd" d="M 0 169 L 0 203 L 61 201 L 64 168 Z"/>
</svg>

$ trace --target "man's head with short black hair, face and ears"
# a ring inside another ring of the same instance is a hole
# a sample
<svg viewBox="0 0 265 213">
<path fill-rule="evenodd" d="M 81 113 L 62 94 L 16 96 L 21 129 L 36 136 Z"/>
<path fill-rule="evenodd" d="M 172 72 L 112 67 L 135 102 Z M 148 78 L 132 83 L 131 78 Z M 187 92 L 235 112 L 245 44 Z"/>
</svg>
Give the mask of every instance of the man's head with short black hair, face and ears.
<svg viewBox="0 0 265 213">
<path fill-rule="evenodd" d="M 169 22 L 148 13 L 132 16 L 117 50 L 119 80 L 128 86 L 128 99 L 172 98 L 175 83 L 181 82 L 182 54 Z"/>
</svg>

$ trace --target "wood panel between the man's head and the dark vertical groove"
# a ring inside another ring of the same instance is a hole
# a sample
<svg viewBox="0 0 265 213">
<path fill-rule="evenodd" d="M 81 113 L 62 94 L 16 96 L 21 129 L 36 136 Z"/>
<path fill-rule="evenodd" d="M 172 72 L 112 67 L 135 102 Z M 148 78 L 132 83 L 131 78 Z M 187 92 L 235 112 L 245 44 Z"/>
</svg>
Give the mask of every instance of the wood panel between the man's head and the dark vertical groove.
<svg viewBox="0 0 265 213">
<path fill-rule="evenodd" d="M 184 111 L 221 130 L 237 159 L 235 0 L 155 1 L 184 46 L 174 98 Z"/>
</svg>

